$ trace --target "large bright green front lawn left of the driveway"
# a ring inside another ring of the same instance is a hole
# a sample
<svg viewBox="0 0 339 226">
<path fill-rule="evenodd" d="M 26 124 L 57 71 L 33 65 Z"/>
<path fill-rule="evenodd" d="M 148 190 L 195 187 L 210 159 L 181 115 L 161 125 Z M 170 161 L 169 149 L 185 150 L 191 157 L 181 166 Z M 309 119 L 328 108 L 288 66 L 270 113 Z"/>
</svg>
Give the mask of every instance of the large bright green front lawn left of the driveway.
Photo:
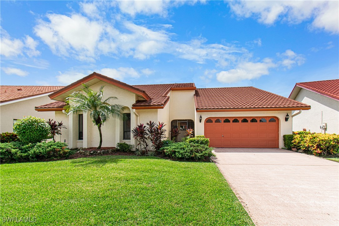
<svg viewBox="0 0 339 226">
<path fill-rule="evenodd" d="M 253 225 L 214 163 L 101 156 L 0 167 L 1 217 L 47 225 Z"/>
</svg>

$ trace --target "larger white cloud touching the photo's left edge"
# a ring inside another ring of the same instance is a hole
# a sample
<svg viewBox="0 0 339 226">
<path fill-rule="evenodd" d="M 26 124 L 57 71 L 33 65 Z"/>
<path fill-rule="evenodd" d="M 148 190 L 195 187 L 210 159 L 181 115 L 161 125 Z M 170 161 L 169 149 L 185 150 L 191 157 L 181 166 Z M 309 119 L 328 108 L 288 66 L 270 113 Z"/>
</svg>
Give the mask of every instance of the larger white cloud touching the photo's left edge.
<svg viewBox="0 0 339 226">
<path fill-rule="evenodd" d="M 22 39 L 12 38 L 6 30 L 1 28 L 1 55 L 5 57 L 17 57 L 25 52 L 29 57 L 38 56 L 36 49 L 38 41 L 26 35 Z"/>
</svg>

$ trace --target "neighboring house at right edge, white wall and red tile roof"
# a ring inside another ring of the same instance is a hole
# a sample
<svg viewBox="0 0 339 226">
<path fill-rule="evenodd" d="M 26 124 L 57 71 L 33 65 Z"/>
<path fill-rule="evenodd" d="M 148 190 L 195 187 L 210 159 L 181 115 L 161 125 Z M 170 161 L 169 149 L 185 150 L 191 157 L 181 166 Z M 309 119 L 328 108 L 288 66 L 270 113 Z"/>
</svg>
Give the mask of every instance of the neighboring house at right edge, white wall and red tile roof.
<svg viewBox="0 0 339 226">
<path fill-rule="evenodd" d="M 312 106 L 294 112 L 293 131 L 339 134 L 339 79 L 296 83 L 289 98 Z"/>
</svg>

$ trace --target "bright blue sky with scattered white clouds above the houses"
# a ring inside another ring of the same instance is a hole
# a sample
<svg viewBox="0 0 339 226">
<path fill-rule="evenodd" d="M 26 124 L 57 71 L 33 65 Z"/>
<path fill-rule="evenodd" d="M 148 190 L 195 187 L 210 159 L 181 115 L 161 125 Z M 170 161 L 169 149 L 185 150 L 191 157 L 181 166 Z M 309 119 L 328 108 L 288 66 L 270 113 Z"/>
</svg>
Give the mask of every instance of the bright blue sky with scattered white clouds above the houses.
<svg viewBox="0 0 339 226">
<path fill-rule="evenodd" d="M 1 85 L 338 79 L 338 1 L 1 1 Z"/>
</svg>

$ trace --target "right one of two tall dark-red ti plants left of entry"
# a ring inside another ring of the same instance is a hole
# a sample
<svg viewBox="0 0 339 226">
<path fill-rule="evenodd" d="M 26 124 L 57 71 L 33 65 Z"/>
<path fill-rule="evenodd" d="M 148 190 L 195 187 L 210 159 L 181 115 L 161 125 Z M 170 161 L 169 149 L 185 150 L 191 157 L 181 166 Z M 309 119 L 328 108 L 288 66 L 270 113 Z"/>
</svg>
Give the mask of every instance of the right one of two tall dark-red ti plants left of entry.
<svg viewBox="0 0 339 226">
<path fill-rule="evenodd" d="M 162 140 L 166 138 L 166 129 L 165 124 L 162 122 L 159 124 L 149 121 L 146 123 L 148 138 L 152 142 L 152 146 L 154 150 L 159 150 L 162 147 Z"/>
</svg>

